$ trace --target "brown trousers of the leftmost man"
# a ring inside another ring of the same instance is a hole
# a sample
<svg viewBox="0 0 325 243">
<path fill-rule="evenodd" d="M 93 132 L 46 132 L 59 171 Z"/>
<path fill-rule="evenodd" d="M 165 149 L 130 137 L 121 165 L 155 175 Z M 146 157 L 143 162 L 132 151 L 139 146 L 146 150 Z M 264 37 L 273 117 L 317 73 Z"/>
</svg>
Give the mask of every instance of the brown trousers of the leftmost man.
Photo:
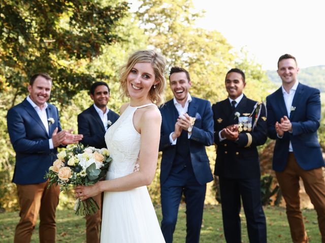
<svg viewBox="0 0 325 243">
<path fill-rule="evenodd" d="M 59 203 L 60 188 L 54 185 L 50 188 L 47 186 L 48 181 L 39 184 L 17 184 L 20 221 L 16 226 L 15 243 L 30 242 L 39 214 L 40 242 L 55 242 L 55 211 Z"/>
</svg>

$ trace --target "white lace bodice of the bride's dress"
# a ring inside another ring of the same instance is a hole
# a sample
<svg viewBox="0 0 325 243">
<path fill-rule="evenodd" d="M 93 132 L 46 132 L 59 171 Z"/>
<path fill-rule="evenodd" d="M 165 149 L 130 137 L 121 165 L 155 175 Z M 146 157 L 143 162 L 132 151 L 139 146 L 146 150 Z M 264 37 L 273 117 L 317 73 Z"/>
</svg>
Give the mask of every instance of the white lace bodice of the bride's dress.
<svg viewBox="0 0 325 243">
<path fill-rule="evenodd" d="M 106 179 L 114 179 L 138 170 L 141 136 L 133 124 L 133 115 L 142 106 L 128 106 L 115 123 L 107 130 L 105 142 L 112 157 Z"/>
</svg>

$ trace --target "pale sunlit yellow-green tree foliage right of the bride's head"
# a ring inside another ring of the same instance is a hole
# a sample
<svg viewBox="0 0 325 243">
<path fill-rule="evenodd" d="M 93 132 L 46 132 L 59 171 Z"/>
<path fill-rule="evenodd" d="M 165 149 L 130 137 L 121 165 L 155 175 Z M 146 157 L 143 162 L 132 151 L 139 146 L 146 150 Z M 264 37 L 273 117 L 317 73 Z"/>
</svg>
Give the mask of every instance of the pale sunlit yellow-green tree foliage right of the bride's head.
<svg viewBox="0 0 325 243">
<path fill-rule="evenodd" d="M 191 0 L 144 0 L 137 16 L 140 26 L 149 36 L 149 45 L 167 58 L 168 68 L 176 65 L 189 71 L 192 95 L 212 103 L 224 99 L 224 77 L 233 67 L 245 67 L 245 71 L 253 74 L 251 79 L 258 80 L 259 88 L 266 90 L 264 87 L 268 86 L 268 80 L 260 66 L 242 53 L 236 53 L 218 31 L 195 26 L 202 13 L 193 9 Z M 256 92 L 259 95 L 254 98 L 262 100 L 263 95 L 265 98 L 266 92 L 263 91 Z M 168 98 L 171 97 L 169 92 Z"/>
</svg>

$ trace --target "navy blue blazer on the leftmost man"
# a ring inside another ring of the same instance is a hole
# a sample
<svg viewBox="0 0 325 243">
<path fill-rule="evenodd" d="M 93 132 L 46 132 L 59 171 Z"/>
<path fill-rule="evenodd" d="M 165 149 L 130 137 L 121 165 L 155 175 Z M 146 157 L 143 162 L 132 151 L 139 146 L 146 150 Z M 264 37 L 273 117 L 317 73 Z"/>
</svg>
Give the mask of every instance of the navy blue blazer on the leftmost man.
<svg viewBox="0 0 325 243">
<path fill-rule="evenodd" d="M 57 108 L 48 104 L 46 108 L 49 135 L 41 118 L 30 103 L 24 99 L 7 113 L 7 126 L 11 143 L 16 152 L 16 164 L 12 182 L 16 184 L 36 184 L 45 182 L 44 175 L 56 158 L 56 148 L 50 149 L 49 139 L 55 128 L 61 131 Z"/>
</svg>

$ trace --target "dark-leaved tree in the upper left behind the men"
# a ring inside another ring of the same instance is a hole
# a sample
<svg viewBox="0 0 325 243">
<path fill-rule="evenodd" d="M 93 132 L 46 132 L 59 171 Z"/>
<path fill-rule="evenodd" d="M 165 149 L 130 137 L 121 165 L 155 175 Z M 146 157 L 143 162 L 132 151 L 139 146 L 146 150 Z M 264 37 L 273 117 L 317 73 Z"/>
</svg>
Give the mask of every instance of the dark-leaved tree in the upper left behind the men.
<svg viewBox="0 0 325 243">
<path fill-rule="evenodd" d="M 90 75 L 87 64 L 120 41 L 127 10 L 120 1 L 1 0 L 0 91 L 11 86 L 16 97 L 32 73 L 45 71 L 55 80 L 52 97 L 66 101 L 103 76 Z"/>
</svg>

